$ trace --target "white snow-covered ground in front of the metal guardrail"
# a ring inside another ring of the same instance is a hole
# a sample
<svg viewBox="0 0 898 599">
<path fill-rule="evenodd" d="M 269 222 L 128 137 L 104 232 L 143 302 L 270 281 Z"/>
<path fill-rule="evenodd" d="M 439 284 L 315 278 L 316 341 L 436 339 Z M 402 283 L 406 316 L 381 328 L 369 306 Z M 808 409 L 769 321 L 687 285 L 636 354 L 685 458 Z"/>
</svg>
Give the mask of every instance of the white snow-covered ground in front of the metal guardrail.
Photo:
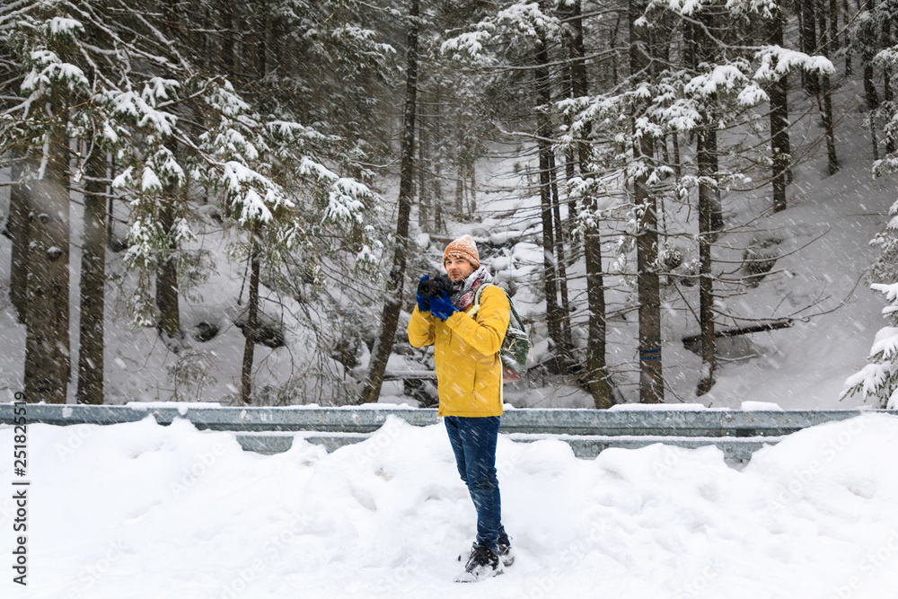
<svg viewBox="0 0 898 599">
<path fill-rule="evenodd" d="M 713 447 L 575 458 L 500 438 L 515 564 L 460 586 L 471 500 L 441 425 L 392 418 L 331 454 L 243 452 L 183 420 L 0 429 L 4 599 L 614 597 L 894 599 L 898 418 L 808 428 L 744 467 Z M 13 480 L 27 587 L 13 583 Z M 21 516 L 21 515 L 20 515 Z"/>
</svg>

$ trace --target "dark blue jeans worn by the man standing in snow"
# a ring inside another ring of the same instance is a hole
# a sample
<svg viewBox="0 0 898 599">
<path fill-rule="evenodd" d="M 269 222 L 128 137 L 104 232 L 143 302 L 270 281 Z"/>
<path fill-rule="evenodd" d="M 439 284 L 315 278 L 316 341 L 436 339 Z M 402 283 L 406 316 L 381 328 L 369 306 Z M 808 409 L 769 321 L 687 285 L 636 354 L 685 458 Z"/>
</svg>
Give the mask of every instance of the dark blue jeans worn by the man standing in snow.
<svg viewBox="0 0 898 599">
<path fill-rule="evenodd" d="M 502 527 L 502 501 L 496 478 L 496 441 L 499 417 L 445 417 L 455 465 L 477 510 L 477 542 L 498 551 Z"/>
</svg>

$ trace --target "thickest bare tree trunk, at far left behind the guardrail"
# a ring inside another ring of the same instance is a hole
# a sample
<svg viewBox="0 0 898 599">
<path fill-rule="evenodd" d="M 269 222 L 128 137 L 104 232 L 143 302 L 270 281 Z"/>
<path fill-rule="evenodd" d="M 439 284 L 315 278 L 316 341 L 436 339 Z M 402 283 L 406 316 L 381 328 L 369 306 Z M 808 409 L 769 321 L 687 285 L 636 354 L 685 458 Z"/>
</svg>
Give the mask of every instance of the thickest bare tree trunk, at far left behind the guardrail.
<svg viewBox="0 0 898 599">
<path fill-rule="evenodd" d="M 69 198 L 66 138 L 50 138 L 44 179 L 30 186 L 28 313 L 25 336 L 27 401 L 66 403 L 71 358 L 68 339 Z"/>
</svg>

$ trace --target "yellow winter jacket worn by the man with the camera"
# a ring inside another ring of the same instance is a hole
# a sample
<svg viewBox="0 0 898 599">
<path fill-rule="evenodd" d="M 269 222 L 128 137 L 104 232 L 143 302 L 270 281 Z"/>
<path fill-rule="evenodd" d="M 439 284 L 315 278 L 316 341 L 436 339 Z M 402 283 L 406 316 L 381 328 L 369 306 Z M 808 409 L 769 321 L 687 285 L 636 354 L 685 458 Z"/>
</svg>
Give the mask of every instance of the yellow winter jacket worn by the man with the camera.
<svg viewBox="0 0 898 599">
<path fill-rule="evenodd" d="M 439 416 L 477 418 L 502 415 L 502 362 L 498 351 L 508 328 L 511 308 L 505 292 L 490 285 L 480 295 L 474 318 L 453 313 L 441 321 L 418 306 L 409 321 L 409 343 L 433 344 Z"/>
</svg>

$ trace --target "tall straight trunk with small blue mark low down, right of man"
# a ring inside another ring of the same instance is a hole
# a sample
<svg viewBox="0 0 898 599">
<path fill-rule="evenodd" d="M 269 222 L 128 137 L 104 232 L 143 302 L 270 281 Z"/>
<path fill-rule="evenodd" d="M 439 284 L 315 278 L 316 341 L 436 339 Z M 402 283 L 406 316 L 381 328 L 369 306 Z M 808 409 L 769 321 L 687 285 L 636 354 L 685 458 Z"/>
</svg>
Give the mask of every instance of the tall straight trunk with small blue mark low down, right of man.
<svg viewBox="0 0 898 599">
<path fill-rule="evenodd" d="M 629 4 L 630 76 L 647 76 L 648 32 L 636 20 L 646 12 L 645 0 Z M 634 119 L 644 110 L 645 101 L 636 106 Z M 652 140 L 638 137 L 633 144 L 633 160 L 647 163 L 652 155 Z M 647 166 L 647 164 L 646 164 Z M 648 169 L 639 169 L 633 181 L 634 203 L 638 211 L 636 238 L 637 286 L 639 300 L 639 401 L 662 403 L 665 397 L 661 357 L 661 286 L 656 272 L 658 258 L 658 219 L 656 198 L 648 187 Z"/>
</svg>

